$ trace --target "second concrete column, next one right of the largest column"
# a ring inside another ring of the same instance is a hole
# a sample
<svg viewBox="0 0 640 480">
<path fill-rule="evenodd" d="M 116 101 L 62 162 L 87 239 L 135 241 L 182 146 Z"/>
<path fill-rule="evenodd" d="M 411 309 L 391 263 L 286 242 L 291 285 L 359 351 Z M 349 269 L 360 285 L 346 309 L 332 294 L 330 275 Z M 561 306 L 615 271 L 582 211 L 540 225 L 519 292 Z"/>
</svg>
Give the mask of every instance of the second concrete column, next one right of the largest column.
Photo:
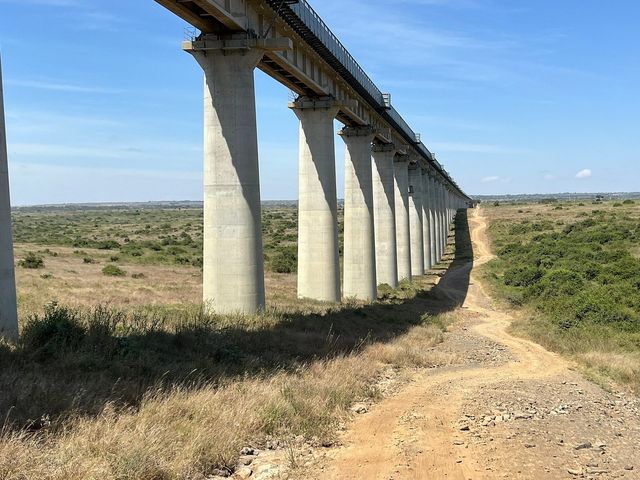
<svg viewBox="0 0 640 480">
<path fill-rule="evenodd" d="M 340 301 L 335 131 L 331 98 L 300 98 L 289 105 L 300 119 L 298 297 Z"/>
</svg>

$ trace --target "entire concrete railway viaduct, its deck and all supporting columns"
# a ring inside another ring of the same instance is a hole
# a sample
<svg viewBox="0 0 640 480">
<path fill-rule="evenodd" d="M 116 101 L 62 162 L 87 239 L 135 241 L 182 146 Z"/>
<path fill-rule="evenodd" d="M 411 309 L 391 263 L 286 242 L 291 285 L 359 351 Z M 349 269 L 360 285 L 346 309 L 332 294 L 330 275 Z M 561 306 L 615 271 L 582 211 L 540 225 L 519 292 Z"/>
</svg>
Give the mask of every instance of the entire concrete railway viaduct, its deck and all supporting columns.
<svg viewBox="0 0 640 480">
<path fill-rule="evenodd" d="M 296 93 L 298 296 L 376 298 L 377 285 L 442 258 L 467 197 L 306 0 L 155 0 L 200 31 L 182 48 L 204 71 L 203 300 L 265 305 L 254 70 Z M 1 101 L 0 84 L 0 101 Z M 344 126 L 344 256 L 338 254 L 333 122 Z M 0 128 L 0 331 L 17 335 L 9 185 Z"/>
</svg>

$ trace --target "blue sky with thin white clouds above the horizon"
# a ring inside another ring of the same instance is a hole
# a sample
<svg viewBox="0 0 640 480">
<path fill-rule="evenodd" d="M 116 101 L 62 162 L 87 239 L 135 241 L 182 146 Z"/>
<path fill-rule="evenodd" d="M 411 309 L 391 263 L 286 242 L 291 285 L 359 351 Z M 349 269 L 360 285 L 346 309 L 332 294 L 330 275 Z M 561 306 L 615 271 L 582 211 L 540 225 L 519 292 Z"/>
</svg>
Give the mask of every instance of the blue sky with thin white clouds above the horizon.
<svg viewBox="0 0 640 480">
<path fill-rule="evenodd" d="M 311 4 L 467 193 L 640 190 L 640 2 Z M 0 0 L 14 204 L 201 199 L 186 26 L 152 0 Z M 291 94 L 256 88 L 262 196 L 295 199 Z"/>
</svg>

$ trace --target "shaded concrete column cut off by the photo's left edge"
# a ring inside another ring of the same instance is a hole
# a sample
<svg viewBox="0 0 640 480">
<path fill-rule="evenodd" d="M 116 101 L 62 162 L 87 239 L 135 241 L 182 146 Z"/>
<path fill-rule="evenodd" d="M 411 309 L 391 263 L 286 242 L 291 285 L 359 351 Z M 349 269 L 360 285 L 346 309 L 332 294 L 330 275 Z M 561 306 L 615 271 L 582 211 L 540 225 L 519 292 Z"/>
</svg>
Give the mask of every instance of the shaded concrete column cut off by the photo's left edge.
<svg viewBox="0 0 640 480">
<path fill-rule="evenodd" d="M 7 131 L 4 120 L 2 59 L 0 59 L 0 337 L 18 340 L 16 274 L 13 265 L 11 201 L 7 161 Z"/>
</svg>

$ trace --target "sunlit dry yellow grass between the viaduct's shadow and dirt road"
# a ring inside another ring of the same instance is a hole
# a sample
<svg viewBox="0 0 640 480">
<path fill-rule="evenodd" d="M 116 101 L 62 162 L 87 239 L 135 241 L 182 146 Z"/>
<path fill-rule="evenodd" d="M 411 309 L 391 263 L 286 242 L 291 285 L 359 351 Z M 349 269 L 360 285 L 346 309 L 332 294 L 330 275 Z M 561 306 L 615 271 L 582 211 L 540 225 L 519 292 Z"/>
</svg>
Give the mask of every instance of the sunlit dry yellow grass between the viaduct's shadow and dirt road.
<svg viewBox="0 0 640 480">
<path fill-rule="evenodd" d="M 375 380 L 386 365 L 442 363 L 428 350 L 441 338 L 439 328 L 419 326 L 390 343 L 296 372 L 152 390 L 135 409 L 106 405 L 99 415 L 70 418 L 51 432 L 7 430 L 0 478 L 204 479 L 216 467 L 231 467 L 244 445 L 267 434 L 331 441 L 350 404 L 376 396 Z"/>
</svg>

